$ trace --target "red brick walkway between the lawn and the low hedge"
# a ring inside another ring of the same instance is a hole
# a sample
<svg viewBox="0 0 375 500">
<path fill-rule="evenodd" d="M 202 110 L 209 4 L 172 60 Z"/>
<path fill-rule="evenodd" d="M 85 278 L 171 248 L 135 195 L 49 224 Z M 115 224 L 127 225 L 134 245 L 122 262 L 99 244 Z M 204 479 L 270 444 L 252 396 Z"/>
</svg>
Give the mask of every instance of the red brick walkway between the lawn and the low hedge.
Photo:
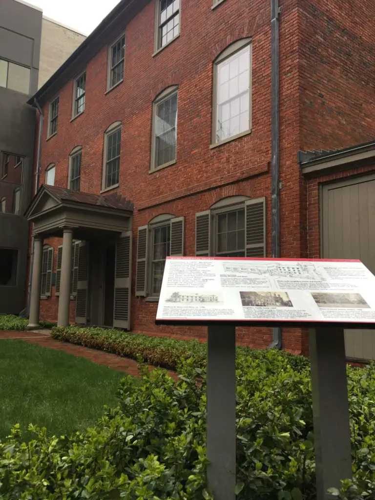
<svg viewBox="0 0 375 500">
<path fill-rule="evenodd" d="M 7 339 L 21 339 L 27 343 L 33 343 L 40 345 L 42 347 L 48 347 L 50 349 L 62 350 L 68 354 L 73 354 L 74 356 L 84 357 L 89 359 L 93 363 L 102 364 L 108 366 L 117 371 L 125 371 L 130 375 L 137 376 L 138 368 L 137 362 L 128 357 L 117 356 L 116 354 L 111 354 L 109 352 L 103 352 L 102 350 L 90 349 L 88 347 L 83 347 L 82 345 L 75 345 L 69 342 L 60 342 L 52 338 L 49 333 L 42 333 L 39 331 L 0 331 L 0 341 L 2 338 Z M 1 345 L 0 345 L 1 348 Z M 150 369 L 154 369 L 154 366 L 149 366 Z M 177 378 L 174 371 L 168 371 L 168 374 L 173 378 Z"/>
</svg>

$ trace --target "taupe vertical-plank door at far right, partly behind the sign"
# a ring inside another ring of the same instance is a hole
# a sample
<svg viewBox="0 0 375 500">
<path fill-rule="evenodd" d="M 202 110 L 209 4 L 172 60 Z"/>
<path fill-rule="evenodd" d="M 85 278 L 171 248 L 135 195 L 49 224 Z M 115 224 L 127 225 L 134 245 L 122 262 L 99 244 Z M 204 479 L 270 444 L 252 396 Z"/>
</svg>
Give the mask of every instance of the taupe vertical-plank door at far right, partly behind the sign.
<svg viewBox="0 0 375 500">
<path fill-rule="evenodd" d="M 375 274 L 375 175 L 323 185 L 323 258 L 359 258 Z M 375 330 L 345 330 L 346 356 L 375 359 Z"/>
</svg>

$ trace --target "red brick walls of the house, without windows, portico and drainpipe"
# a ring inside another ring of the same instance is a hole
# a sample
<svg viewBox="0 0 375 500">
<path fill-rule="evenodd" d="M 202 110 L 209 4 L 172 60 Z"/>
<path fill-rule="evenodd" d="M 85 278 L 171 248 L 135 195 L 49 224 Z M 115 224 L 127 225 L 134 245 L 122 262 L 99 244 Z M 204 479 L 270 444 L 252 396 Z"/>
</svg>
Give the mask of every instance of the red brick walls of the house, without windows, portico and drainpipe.
<svg viewBox="0 0 375 500">
<path fill-rule="evenodd" d="M 358 3 L 357 10 L 361 7 L 361 12 L 367 12 L 359 21 L 348 15 L 345 2 L 339 2 L 339 6 L 322 0 L 280 3 L 281 257 L 317 257 L 318 180 L 307 182 L 302 177 L 296 155 L 299 149 L 343 147 L 375 135 L 375 47 L 369 35 L 375 6 L 370 0 L 364 2 L 366 8 L 363 2 Z M 57 134 L 48 140 L 44 120 L 41 182 L 45 168 L 53 162 L 55 184 L 66 187 L 68 155 L 80 145 L 80 190 L 95 193 L 101 189 L 104 131 L 112 122 L 122 121 L 116 189 L 135 207 L 131 294 L 134 332 L 197 338 L 206 334 L 204 328 L 155 326 L 156 303 L 134 295 L 137 228 L 155 215 L 185 217 L 185 255 L 194 255 L 196 212 L 230 195 L 265 196 L 266 253 L 271 252 L 269 2 L 225 0 L 213 10 L 211 4 L 211 0 L 181 0 L 180 36 L 152 56 L 155 6 L 153 0 L 146 3 L 126 30 L 123 26 L 124 81 L 106 93 L 107 46 L 103 46 L 86 65 L 83 114 L 70 121 L 69 79 L 59 90 Z M 212 61 L 231 42 L 243 37 L 252 38 L 252 131 L 210 149 Z M 177 160 L 149 173 L 152 101 L 172 84 L 178 85 Z M 47 103 L 43 113 L 48 114 Z M 46 242 L 54 246 L 60 243 L 55 239 Z M 70 313 L 73 321 L 74 302 Z M 52 287 L 52 297 L 41 302 L 41 317 L 55 320 L 56 315 Z M 237 329 L 238 342 L 253 347 L 265 347 L 271 339 L 269 329 Z M 284 329 L 283 346 L 306 353 L 307 333 Z"/>
</svg>

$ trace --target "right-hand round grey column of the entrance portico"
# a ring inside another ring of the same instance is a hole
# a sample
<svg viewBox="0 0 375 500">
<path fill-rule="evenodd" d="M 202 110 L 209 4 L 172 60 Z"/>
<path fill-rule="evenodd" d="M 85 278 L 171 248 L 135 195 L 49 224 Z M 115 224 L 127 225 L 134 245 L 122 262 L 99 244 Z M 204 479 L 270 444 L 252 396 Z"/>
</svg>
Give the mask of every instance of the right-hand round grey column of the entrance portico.
<svg viewBox="0 0 375 500">
<path fill-rule="evenodd" d="M 58 299 L 57 326 L 67 326 L 69 324 L 72 244 L 73 244 L 72 229 L 64 229 L 62 236 L 60 296 Z"/>
</svg>

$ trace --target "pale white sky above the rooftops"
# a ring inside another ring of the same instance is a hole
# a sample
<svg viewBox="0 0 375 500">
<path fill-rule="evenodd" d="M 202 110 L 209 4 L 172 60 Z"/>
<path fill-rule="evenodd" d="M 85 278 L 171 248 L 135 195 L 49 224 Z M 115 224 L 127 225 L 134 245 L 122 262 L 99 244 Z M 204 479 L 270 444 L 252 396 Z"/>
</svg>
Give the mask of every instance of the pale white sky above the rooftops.
<svg viewBox="0 0 375 500">
<path fill-rule="evenodd" d="M 25 0 L 41 9 L 46 17 L 83 34 L 90 32 L 119 0 Z"/>
</svg>

